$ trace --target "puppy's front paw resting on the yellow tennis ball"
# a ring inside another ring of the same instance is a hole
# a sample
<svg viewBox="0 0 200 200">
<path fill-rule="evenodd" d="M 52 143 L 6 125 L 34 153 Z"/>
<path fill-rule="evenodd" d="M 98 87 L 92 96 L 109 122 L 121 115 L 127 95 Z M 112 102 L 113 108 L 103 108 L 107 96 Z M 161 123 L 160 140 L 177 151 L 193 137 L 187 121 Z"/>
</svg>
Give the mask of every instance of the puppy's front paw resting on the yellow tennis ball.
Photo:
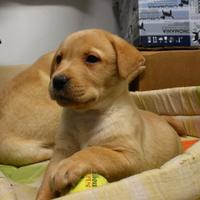
<svg viewBox="0 0 200 200">
<path fill-rule="evenodd" d="M 71 158 L 62 160 L 50 178 L 50 187 L 55 194 L 64 194 L 74 186 L 79 179 L 90 169 L 82 161 L 76 161 Z"/>
</svg>

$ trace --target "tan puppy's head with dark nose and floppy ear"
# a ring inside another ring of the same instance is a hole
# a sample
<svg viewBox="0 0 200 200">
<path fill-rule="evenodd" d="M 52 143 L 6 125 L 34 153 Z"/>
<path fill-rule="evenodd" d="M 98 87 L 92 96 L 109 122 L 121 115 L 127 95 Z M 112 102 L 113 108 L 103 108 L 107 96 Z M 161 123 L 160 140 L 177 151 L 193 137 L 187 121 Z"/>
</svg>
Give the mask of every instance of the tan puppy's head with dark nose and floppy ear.
<svg viewBox="0 0 200 200">
<path fill-rule="evenodd" d="M 90 29 L 73 33 L 60 45 L 49 92 L 61 106 L 87 108 L 115 96 L 143 67 L 143 56 L 123 39 Z"/>
</svg>

